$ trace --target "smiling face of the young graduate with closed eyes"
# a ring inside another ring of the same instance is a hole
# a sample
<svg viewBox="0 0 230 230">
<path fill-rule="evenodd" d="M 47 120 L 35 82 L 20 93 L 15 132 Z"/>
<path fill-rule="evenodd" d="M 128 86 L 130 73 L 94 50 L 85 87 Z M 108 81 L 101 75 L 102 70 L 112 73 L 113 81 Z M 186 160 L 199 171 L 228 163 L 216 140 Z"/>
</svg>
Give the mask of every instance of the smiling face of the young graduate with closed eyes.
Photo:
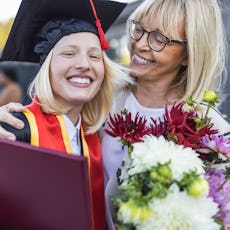
<svg viewBox="0 0 230 230">
<path fill-rule="evenodd" d="M 61 38 L 53 48 L 50 81 L 59 103 L 82 108 L 99 91 L 105 69 L 99 38 L 89 32 Z"/>
</svg>

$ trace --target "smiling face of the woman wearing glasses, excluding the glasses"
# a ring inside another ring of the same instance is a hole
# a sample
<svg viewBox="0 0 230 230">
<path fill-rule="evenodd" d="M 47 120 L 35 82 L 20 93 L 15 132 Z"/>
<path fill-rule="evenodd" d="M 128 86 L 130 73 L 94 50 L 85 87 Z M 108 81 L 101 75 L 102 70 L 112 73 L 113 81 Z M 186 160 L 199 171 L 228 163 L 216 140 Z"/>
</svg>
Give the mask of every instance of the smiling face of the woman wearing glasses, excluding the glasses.
<svg viewBox="0 0 230 230">
<path fill-rule="evenodd" d="M 159 30 L 159 22 L 155 17 L 148 16 L 139 21 L 146 31 Z M 186 40 L 183 20 L 178 24 L 179 38 Z M 166 35 L 167 36 L 167 35 Z M 187 65 L 186 46 L 178 43 L 167 44 L 161 52 L 150 49 L 147 43 L 147 33 L 138 41 L 130 38 L 131 75 L 138 81 L 165 82 L 170 85 L 176 78 L 182 66 Z"/>
</svg>

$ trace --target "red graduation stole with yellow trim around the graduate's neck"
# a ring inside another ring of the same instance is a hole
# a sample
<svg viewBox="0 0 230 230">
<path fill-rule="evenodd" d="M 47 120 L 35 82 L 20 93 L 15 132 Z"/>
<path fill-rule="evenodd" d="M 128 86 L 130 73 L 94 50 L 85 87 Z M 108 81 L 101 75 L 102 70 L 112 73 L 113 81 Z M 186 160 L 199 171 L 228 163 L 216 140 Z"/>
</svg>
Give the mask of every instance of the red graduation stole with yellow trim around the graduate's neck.
<svg viewBox="0 0 230 230">
<path fill-rule="evenodd" d="M 28 105 L 23 113 L 30 124 L 31 145 L 71 154 L 71 145 L 62 115 L 43 113 L 35 102 Z M 81 140 L 83 155 L 88 158 L 94 230 L 104 230 L 106 227 L 100 139 L 96 133 L 85 136 L 81 127 Z"/>
</svg>

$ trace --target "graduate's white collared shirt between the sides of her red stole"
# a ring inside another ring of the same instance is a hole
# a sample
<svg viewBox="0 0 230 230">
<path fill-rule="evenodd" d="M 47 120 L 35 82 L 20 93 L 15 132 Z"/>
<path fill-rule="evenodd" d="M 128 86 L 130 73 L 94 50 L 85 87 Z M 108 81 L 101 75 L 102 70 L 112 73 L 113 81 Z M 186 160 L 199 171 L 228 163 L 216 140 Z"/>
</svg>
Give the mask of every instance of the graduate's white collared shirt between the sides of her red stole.
<svg viewBox="0 0 230 230">
<path fill-rule="evenodd" d="M 73 155 L 81 155 L 82 154 L 81 137 L 80 137 L 81 116 L 79 116 L 76 125 L 74 125 L 72 121 L 65 114 L 63 114 L 63 118 L 69 136 L 72 153 Z"/>
</svg>

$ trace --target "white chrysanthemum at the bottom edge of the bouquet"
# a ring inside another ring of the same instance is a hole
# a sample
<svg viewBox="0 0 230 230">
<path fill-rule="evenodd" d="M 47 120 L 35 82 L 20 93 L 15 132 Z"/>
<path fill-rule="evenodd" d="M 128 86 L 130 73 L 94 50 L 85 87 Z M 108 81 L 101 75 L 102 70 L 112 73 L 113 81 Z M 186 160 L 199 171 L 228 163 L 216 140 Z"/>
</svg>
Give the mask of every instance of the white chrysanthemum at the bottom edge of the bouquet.
<svg viewBox="0 0 230 230">
<path fill-rule="evenodd" d="M 137 230 L 219 230 L 213 220 L 217 204 L 211 198 L 193 198 L 176 187 L 165 199 L 153 199 L 149 206 L 153 210 L 147 221 L 137 226 Z"/>
</svg>

